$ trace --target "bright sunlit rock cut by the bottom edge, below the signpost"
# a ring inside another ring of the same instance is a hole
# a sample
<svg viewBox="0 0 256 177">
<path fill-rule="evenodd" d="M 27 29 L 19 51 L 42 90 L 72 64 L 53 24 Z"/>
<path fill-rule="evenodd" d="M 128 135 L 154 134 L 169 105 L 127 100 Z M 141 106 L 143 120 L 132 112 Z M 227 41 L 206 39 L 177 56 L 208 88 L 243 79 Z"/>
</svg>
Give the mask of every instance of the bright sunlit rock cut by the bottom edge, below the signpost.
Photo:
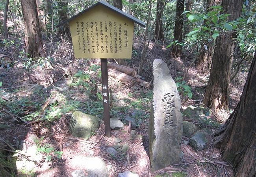
<svg viewBox="0 0 256 177">
<path fill-rule="evenodd" d="M 88 158 L 87 169 L 87 177 L 109 177 L 104 160 L 98 157 Z"/>
</svg>

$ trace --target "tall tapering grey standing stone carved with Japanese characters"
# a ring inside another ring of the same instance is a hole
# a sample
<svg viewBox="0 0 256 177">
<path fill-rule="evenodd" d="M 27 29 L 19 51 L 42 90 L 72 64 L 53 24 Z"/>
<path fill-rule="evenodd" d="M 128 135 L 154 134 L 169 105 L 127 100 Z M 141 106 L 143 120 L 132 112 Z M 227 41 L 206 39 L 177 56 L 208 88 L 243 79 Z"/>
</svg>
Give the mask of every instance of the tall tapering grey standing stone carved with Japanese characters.
<svg viewBox="0 0 256 177">
<path fill-rule="evenodd" d="M 154 96 L 148 131 L 151 170 L 155 171 L 180 159 L 182 114 L 180 96 L 166 63 L 155 59 L 153 70 Z"/>
</svg>

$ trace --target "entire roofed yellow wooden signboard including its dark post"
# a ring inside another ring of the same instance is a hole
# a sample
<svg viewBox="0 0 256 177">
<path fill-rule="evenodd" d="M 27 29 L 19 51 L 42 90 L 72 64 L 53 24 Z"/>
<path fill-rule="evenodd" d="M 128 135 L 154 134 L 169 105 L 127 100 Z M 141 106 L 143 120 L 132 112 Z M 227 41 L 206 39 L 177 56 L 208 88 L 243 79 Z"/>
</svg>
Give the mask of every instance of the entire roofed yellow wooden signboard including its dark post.
<svg viewBox="0 0 256 177">
<path fill-rule="evenodd" d="M 69 22 L 76 58 L 100 58 L 105 135 L 110 137 L 107 58 L 132 58 L 134 22 L 145 23 L 107 4 L 98 2 L 57 27 Z"/>
</svg>

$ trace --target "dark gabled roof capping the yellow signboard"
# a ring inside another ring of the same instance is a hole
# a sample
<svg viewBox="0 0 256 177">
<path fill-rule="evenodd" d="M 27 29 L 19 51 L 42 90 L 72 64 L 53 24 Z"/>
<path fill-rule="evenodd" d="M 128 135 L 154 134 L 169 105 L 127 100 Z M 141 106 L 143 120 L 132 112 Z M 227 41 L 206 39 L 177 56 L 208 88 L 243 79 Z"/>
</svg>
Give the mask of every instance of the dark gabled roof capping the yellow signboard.
<svg viewBox="0 0 256 177">
<path fill-rule="evenodd" d="M 141 25 L 141 26 L 143 26 L 143 27 L 146 26 L 145 23 L 142 22 L 141 20 L 139 20 L 139 19 L 137 19 L 137 18 L 135 18 L 135 17 L 132 17 L 132 16 L 129 15 L 128 13 L 124 13 L 124 12 L 121 11 L 120 9 L 117 9 L 116 7 L 111 6 L 111 5 L 109 5 L 108 3 L 106 3 L 106 2 L 100 1 L 100 2 L 97 2 L 96 4 L 94 4 L 93 6 L 88 7 L 87 9 L 84 9 L 82 12 L 80 12 L 80 13 L 74 15 L 73 17 L 71 17 L 71 18 L 69 18 L 69 19 L 63 21 L 62 23 L 58 24 L 57 27 L 59 27 L 59 26 L 65 24 L 65 23 L 67 23 L 67 22 L 70 22 L 70 21 L 73 20 L 74 18 L 76 18 L 76 17 L 82 15 L 83 13 L 85 13 L 85 12 L 87 12 L 87 11 L 93 9 L 93 7 L 96 7 L 96 6 L 98 6 L 98 5 L 104 6 L 104 7 L 108 8 L 108 9 L 110 9 L 110 10 L 112 10 L 112 11 L 115 11 L 115 12 L 117 12 L 118 14 L 122 15 L 123 17 L 126 17 L 126 18 L 128 18 L 129 20 L 132 20 L 133 22 L 135 22 L 135 23 L 137 23 L 137 24 L 139 24 L 139 25 Z"/>
</svg>

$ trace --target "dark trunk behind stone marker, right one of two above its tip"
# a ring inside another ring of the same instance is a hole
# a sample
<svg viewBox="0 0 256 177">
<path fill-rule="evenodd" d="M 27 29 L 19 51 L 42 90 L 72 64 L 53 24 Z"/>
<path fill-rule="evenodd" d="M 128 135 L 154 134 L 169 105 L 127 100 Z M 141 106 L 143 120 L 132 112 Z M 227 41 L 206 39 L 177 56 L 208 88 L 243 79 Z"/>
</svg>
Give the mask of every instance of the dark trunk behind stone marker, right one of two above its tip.
<svg viewBox="0 0 256 177">
<path fill-rule="evenodd" d="M 177 0 L 173 41 L 182 42 L 183 11 L 184 11 L 184 0 Z M 182 46 L 173 44 L 171 54 L 180 56 L 181 53 L 182 53 Z"/>
</svg>

